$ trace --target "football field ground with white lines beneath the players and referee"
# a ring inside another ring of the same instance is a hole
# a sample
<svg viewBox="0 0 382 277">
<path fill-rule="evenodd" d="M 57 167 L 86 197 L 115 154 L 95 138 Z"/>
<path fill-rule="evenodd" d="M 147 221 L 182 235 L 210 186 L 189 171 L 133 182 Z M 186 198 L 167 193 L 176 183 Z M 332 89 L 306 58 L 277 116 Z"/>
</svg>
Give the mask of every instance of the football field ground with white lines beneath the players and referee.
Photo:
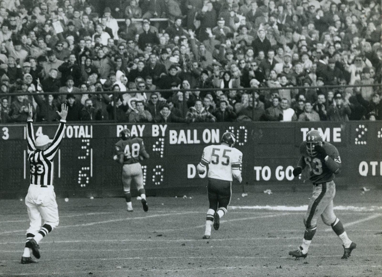
<svg viewBox="0 0 382 277">
<path fill-rule="evenodd" d="M 202 240 L 206 193 L 133 199 L 57 199 L 60 225 L 40 243 L 37 264 L 20 264 L 28 227 L 20 200 L 1 200 L 0 276 L 382 276 L 382 191 L 337 190 L 335 213 L 357 243 L 342 242 L 319 220 L 306 259 L 302 242 L 311 192 L 235 193 L 220 229 Z M 191 197 L 191 199 L 190 199 Z"/>
</svg>

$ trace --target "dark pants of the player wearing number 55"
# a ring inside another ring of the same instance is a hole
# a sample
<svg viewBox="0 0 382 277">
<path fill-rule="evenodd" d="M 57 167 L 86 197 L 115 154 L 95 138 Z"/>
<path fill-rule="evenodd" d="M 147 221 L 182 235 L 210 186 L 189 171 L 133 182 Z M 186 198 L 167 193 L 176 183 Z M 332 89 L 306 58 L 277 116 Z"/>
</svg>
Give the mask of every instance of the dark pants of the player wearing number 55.
<svg viewBox="0 0 382 277">
<path fill-rule="evenodd" d="M 231 181 L 208 178 L 207 191 L 210 209 L 214 211 L 222 207 L 227 209 L 231 201 Z"/>
</svg>

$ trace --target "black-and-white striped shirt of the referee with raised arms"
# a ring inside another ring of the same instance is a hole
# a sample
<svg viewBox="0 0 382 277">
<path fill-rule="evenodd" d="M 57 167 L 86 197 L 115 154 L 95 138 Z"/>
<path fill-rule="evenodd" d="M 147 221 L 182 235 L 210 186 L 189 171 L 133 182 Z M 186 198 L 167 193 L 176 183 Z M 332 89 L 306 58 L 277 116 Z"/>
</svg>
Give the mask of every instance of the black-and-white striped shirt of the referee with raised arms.
<svg viewBox="0 0 382 277">
<path fill-rule="evenodd" d="M 57 132 L 47 149 L 36 148 L 32 120 L 27 121 L 28 160 L 31 166 L 31 184 L 53 185 L 53 157 L 57 153 L 64 136 L 66 120 L 60 120 Z"/>
</svg>

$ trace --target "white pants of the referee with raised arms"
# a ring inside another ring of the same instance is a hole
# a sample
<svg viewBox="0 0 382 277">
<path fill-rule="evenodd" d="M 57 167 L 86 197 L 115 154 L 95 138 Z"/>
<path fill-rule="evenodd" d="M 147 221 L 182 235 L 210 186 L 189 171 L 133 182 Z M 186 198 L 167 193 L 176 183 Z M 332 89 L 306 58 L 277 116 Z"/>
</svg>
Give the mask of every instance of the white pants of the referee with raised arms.
<svg viewBox="0 0 382 277">
<path fill-rule="evenodd" d="M 58 206 L 53 186 L 42 188 L 39 185 L 30 185 L 25 204 L 30 221 L 26 233 L 36 235 L 42 226 L 42 220 L 52 229 L 58 226 Z"/>
</svg>

